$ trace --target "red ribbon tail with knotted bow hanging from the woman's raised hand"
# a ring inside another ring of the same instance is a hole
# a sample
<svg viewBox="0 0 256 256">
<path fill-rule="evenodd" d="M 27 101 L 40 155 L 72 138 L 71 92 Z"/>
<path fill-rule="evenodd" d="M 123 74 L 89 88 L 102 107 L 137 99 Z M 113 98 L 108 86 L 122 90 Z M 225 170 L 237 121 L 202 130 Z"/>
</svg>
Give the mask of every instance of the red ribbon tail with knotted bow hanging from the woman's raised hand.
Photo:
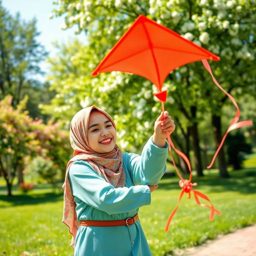
<svg viewBox="0 0 256 256">
<path fill-rule="evenodd" d="M 162 101 L 162 111 L 164 112 L 164 102 Z M 172 163 L 174 165 L 174 168 L 178 174 L 178 176 L 180 177 L 180 181 L 179 181 L 179 186 L 180 188 L 182 188 L 182 191 L 180 192 L 180 196 L 179 196 L 179 199 L 178 199 L 178 204 L 177 206 L 175 207 L 175 209 L 172 211 L 172 213 L 170 214 L 169 218 L 168 218 L 168 221 L 167 221 L 167 224 L 166 224 L 166 228 L 165 228 L 165 232 L 168 231 L 169 229 L 169 225 L 170 225 L 170 222 L 172 221 L 172 218 L 174 216 L 174 214 L 176 213 L 176 211 L 178 210 L 178 207 L 179 207 L 179 204 L 180 204 L 180 201 L 182 199 L 182 196 L 184 195 L 184 193 L 188 193 L 188 198 L 191 197 L 190 195 L 190 192 L 192 191 L 194 193 L 194 198 L 196 200 L 196 203 L 199 204 L 200 206 L 205 206 L 207 208 L 210 208 L 211 209 L 211 212 L 210 212 L 210 217 L 209 217 L 209 220 L 213 220 L 214 219 L 214 214 L 215 212 L 219 215 L 221 215 L 221 212 L 216 210 L 212 204 L 212 202 L 210 201 L 210 199 L 204 195 L 203 193 L 197 191 L 197 190 L 194 190 L 192 187 L 193 186 L 197 186 L 197 183 L 192 183 L 191 180 L 192 180 L 192 174 L 191 174 L 191 166 L 190 166 L 190 162 L 187 158 L 187 156 L 182 153 L 180 150 L 178 150 L 177 148 L 175 148 L 173 142 L 172 142 L 172 139 L 170 137 L 170 132 L 167 131 L 166 132 L 167 134 L 167 140 L 169 142 L 169 151 L 170 151 L 170 156 L 172 158 Z M 174 161 L 174 158 L 172 156 L 172 151 L 171 151 L 171 148 L 174 149 L 174 151 L 180 156 L 182 157 L 182 159 L 186 162 L 187 166 L 188 166 L 188 169 L 189 169 L 189 172 L 190 172 L 190 175 L 189 175 L 189 180 L 184 180 L 182 178 L 182 176 L 180 175 L 180 172 L 178 171 L 178 168 L 175 164 L 175 161 Z M 200 196 L 201 198 L 205 199 L 206 201 L 210 202 L 210 206 L 209 205 L 206 205 L 206 204 L 202 204 L 200 203 L 199 199 L 198 199 L 198 196 Z"/>
</svg>

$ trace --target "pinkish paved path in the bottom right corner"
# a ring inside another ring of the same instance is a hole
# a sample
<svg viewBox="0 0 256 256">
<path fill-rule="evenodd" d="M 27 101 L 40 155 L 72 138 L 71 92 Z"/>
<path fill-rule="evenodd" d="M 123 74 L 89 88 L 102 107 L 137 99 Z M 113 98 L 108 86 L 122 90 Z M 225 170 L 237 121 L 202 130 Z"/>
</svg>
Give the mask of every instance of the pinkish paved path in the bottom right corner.
<svg viewBox="0 0 256 256">
<path fill-rule="evenodd" d="M 189 248 L 179 256 L 256 256 L 256 225 Z"/>
</svg>

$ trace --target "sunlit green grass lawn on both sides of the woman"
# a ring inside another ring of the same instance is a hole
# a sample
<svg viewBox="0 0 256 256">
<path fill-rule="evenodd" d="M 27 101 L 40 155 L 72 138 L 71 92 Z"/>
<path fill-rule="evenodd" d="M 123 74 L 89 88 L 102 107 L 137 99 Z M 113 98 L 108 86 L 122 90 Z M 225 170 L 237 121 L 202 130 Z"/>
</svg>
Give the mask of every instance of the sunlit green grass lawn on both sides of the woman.
<svg viewBox="0 0 256 256">
<path fill-rule="evenodd" d="M 154 256 L 172 255 L 177 248 L 196 246 L 256 222 L 256 168 L 232 171 L 229 179 L 218 178 L 214 171 L 205 174 L 192 182 L 198 182 L 195 189 L 222 212 L 213 221 L 208 220 L 208 208 L 185 194 L 169 231 L 164 232 L 180 194 L 177 177 L 162 178 L 151 205 L 140 208 L 140 221 Z M 15 189 L 12 198 L 0 195 L 0 255 L 18 256 L 26 251 L 30 254 L 24 255 L 72 256 L 71 236 L 61 222 L 62 190 L 52 193 L 50 186 L 42 184 L 22 195 Z"/>
</svg>

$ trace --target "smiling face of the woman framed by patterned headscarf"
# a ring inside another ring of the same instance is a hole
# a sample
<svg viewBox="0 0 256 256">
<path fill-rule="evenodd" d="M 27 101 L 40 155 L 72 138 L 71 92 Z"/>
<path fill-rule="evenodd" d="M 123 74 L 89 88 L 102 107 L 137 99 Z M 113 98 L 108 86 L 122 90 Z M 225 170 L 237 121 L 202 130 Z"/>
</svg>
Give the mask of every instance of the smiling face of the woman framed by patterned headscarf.
<svg viewBox="0 0 256 256">
<path fill-rule="evenodd" d="M 87 138 L 92 150 L 107 153 L 116 145 L 116 129 L 103 113 L 94 111 L 90 114 Z"/>
</svg>

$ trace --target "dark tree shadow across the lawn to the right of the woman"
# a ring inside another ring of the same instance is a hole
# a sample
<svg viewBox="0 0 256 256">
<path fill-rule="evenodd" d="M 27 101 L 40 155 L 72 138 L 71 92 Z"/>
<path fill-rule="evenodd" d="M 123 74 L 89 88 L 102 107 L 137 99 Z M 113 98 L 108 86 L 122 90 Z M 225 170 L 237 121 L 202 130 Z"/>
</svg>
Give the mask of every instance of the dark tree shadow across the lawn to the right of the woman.
<svg viewBox="0 0 256 256">
<path fill-rule="evenodd" d="M 195 190 L 208 187 L 211 192 L 237 191 L 242 194 L 256 193 L 256 168 L 246 168 L 229 172 L 230 178 L 220 178 L 218 174 L 204 172 L 203 177 L 192 177 L 192 182 L 197 182 Z M 188 179 L 188 175 L 183 176 Z M 158 189 L 170 190 L 177 189 L 179 178 L 163 177 Z"/>
</svg>

